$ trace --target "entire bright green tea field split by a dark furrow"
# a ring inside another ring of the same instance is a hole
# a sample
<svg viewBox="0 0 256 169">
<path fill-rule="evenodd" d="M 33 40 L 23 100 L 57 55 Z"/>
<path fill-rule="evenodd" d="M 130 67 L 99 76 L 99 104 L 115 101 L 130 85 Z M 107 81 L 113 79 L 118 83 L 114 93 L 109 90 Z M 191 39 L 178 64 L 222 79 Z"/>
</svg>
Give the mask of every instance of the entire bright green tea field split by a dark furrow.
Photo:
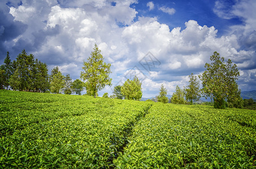
<svg viewBox="0 0 256 169">
<path fill-rule="evenodd" d="M 256 168 L 256 111 L 0 90 L 0 168 Z"/>
</svg>

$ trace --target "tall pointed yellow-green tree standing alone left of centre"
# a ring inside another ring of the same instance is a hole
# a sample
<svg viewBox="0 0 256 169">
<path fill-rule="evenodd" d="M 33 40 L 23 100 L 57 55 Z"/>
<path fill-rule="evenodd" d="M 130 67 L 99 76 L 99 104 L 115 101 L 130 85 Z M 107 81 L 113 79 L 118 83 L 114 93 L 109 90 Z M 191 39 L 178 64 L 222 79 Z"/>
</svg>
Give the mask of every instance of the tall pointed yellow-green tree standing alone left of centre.
<svg viewBox="0 0 256 169">
<path fill-rule="evenodd" d="M 111 86 L 112 79 L 110 78 L 111 64 L 104 63 L 104 58 L 101 55 L 101 50 L 95 44 L 92 54 L 84 61 L 81 72 L 81 79 L 85 81 L 85 88 L 88 95 L 97 96 L 98 91 L 102 90 L 106 85 Z"/>
</svg>

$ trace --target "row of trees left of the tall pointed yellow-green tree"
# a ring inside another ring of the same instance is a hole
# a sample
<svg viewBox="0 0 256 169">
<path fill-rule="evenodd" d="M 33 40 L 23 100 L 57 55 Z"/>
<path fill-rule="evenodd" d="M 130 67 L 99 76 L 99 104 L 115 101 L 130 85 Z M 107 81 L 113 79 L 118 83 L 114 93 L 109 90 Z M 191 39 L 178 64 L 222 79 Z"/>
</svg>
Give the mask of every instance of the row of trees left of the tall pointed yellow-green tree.
<svg viewBox="0 0 256 169">
<path fill-rule="evenodd" d="M 11 61 L 10 54 L 0 66 L 0 87 L 6 90 L 19 90 L 29 92 L 51 92 L 53 94 L 76 93 L 81 95 L 84 83 L 80 79 L 72 82 L 70 74 L 64 76 L 58 66 L 48 74 L 48 66 L 40 60 L 35 59 L 34 55 L 28 55 L 25 50 Z M 10 87 L 10 88 L 9 88 Z"/>
</svg>

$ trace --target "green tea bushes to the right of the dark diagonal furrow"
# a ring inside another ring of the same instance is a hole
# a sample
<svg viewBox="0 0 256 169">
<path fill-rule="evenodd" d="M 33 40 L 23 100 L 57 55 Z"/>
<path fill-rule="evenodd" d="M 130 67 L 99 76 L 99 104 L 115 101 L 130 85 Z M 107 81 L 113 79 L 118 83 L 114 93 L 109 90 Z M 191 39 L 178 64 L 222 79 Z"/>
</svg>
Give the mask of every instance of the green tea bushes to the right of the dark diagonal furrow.
<svg viewBox="0 0 256 169">
<path fill-rule="evenodd" d="M 254 111 L 155 103 L 148 112 L 116 168 L 255 168 Z"/>
</svg>

